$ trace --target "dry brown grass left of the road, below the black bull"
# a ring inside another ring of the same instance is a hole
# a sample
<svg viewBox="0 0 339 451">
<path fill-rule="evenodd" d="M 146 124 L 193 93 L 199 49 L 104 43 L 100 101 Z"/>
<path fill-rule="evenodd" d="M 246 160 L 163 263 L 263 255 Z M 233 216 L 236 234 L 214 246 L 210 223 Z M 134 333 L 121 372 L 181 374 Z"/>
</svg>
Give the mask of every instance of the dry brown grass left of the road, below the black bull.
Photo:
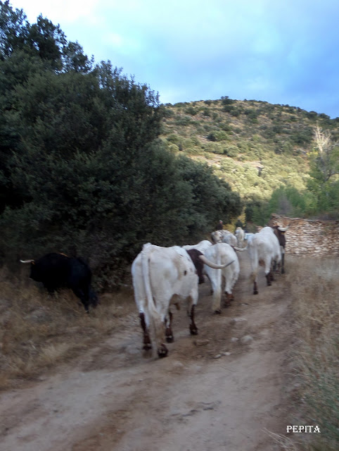
<svg viewBox="0 0 339 451">
<path fill-rule="evenodd" d="M 0 390 L 76 357 L 136 312 L 132 290 L 102 295 L 88 315 L 70 290 L 52 297 L 6 268 L 0 278 Z"/>
</svg>

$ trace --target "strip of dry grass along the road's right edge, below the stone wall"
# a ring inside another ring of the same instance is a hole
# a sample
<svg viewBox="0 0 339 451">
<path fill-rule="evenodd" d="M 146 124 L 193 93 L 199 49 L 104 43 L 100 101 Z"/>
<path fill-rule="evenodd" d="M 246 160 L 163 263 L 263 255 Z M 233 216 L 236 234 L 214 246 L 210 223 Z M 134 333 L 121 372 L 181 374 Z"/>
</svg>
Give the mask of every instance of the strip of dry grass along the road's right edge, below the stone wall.
<svg viewBox="0 0 339 451">
<path fill-rule="evenodd" d="M 339 440 L 338 344 L 339 258 L 295 259 L 287 281 L 297 338 L 293 350 L 298 406 L 293 423 L 318 425 L 302 434 L 307 450 L 335 450 Z M 300 439 L 298 434 L 298 439 Z"/>
</svg>

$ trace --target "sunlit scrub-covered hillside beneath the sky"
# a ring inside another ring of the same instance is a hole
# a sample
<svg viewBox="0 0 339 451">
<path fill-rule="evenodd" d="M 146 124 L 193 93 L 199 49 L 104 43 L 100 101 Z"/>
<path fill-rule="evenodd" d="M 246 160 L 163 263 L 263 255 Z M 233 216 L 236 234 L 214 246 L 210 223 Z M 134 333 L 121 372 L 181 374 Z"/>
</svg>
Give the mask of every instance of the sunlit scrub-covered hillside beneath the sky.
<svg viewBox="0 0 339 451">
<path fill-rule="evenodd" d="M 305 192 L 315 125 L 339 136 L 339 118 L 264 101 L 223 97 L 165 109 L 169 149 L 208 163 L 245 202 L 267 201 L 281 186 Z"/>
</svg>

